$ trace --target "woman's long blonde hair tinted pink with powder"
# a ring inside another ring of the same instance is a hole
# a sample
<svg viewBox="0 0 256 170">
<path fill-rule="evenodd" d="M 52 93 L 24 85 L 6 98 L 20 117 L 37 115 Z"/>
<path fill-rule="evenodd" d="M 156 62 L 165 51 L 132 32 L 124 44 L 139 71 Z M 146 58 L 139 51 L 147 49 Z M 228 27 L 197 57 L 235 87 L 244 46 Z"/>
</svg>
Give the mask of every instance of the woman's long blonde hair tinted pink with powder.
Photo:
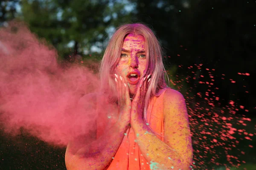
<svg viewBox="0 0 256 170">
<path fill-rule="evenodd" d="M 116 102 L 117 92 L 115 90 L 116 83 L 113 79 L 113 74 L 121 56 L 123 41 L 128 34 L 141 35 L 145 39 L 145 51 L 148 60 L 146 71 L 142 77 L 151 74 L 151 83 L 148 86 L 148 91 L 145 96 L 145 108 L 143 115 L 144 121 L 150 127 L 146 114 L 148 110 L 148 104 L 153 96 L 160 96 L 160 94 L 158 94 L 160 89 L 168 87 L 165 82 L 165 75 L 167 76 L 168 82 L 169 77 L 163 65 L 162 49 L 160 43 L 158 42 L 157 37 L 154 35 L 153 31 L 148 28 L 148 26 L 145 26 L 141 23 L 134 23 L 125 24 L 117 28 L 105 49 L 105 53 L 99 67 L 99 77 L 102 82 L 103 91 L 110 91 L 110 93 L 108 92 L 110 101 Z M 151 115 L 151 110 L 149 115 Z"/>
</svg>

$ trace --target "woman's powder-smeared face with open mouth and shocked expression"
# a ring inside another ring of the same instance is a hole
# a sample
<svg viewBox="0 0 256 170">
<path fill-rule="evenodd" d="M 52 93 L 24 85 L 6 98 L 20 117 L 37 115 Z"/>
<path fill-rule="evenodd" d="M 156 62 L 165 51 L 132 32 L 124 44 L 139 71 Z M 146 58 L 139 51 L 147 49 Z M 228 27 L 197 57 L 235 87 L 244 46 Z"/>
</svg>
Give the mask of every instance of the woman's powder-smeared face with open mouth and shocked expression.
<svg viewBox="0 0 256 170">
<path fill-rule="evenodd" d="M 139 82 L 147 64 L 145 53 L 145 39 L 141 35 L 128 34 L 125 37 L 119 63 L 116 66 L 117 74 L 125 78 L 129 87 L 130 96 L 136 94 Z"/>
</svg>

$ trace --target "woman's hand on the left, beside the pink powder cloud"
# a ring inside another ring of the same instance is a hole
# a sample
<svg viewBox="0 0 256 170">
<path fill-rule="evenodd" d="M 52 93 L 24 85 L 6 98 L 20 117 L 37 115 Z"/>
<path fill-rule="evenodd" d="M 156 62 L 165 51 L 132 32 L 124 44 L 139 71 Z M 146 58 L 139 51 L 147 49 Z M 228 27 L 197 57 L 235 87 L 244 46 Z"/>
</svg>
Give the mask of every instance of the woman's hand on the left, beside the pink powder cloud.
<svg viewBox="0 0 256 170">
<path fill-rule="evenodd" d="M 125 79 L 115 74 L 117 97 L 118 97 L 118 123 L 127 127 L 131 119 L 131 99 L 129 87 L 125 84 Z"/>
</svg>

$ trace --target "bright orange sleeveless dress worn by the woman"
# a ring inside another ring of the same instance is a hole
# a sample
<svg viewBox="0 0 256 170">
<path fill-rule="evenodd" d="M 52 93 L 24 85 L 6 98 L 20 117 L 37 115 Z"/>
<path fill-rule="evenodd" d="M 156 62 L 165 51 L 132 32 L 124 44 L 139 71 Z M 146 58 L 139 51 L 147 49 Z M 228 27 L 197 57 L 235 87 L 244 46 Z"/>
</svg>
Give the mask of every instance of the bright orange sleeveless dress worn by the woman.
<svg viewBox="0 0 256 170">
<path fill-rule="evenodd" d="M 151 99 L 151 102 L 149 102 L 149 107 L 152 107 L 151 116 L 149 116 L 149 113 L 147 114 L 150 127 L 156 133 L 162 134 L 162 136 L 164 136 L 163 96 L 166 89 L 160 91 L 160 96 L 154 96 Z M 163 137 L 158 135 L 157 137 L 163 141 Z M 132 128 L 129 128 L 108 170 L 150 170 L 150 162 L 146 161 L 134 140 L 134 131 Z"/>
</svg>

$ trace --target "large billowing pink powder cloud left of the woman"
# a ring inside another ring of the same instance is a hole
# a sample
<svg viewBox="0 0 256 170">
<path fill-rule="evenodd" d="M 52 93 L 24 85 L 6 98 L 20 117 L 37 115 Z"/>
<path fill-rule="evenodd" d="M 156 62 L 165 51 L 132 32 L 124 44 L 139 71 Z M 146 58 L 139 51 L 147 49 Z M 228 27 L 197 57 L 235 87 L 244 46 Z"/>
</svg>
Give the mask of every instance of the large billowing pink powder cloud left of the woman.
<svg viewBox="0 0 256 170">
<path fill-rule="evenodd" d="M 89 133 L 98 115 L 85 94 L 97 92 L 98 76 L 81 65 L 59 64 L 57 51 L 21 23 L 10 23 L 0 35 L 0 122 L 6 133 L 23 127 L 60 146 Z"/>
</svg>

